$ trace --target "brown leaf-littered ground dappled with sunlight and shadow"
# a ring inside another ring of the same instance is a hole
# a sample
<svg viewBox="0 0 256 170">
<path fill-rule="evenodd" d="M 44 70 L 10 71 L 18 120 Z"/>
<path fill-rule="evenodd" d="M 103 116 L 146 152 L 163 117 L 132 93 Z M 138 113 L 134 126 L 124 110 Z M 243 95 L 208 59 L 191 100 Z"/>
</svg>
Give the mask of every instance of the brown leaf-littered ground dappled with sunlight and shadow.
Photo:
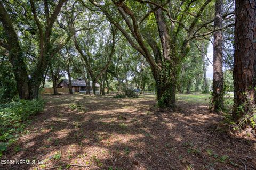
<svg viewBox="0 0 256 170">
<path fill-rule="evenodd" d="M 253 169 L 255 140 L 223 133 L 221 116 L 203 104 L 180 102 L 175 111 L 152 111 L 155 98 L 86 95 L 45 96 L 43 113 L 2 159 L 42 160 L 42 165 L 0 169 Z M 71 111 L 79 101 L 84 111 Z M 216 129 L 217 128 L 217 129 Z M 63 167 L 65 168 L 65 167 Z"/>
</svg>

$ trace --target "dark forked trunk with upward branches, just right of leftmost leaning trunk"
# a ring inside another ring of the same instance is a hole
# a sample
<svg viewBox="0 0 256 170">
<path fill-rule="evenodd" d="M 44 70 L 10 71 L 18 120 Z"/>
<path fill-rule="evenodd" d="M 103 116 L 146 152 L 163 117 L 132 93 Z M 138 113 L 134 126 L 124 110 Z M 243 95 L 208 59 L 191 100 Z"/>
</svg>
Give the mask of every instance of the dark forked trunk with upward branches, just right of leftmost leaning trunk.
<svg viewBox="0 0 256 170">
<path fill-rule="evenodd" d="M 47 66 L 49 66 L 52 57 L 59 52 L 59 50 L 69 41 L 71 38 L 70 36 L 65 40 L 64 43 L 58 44 L 57 46 L 53 47 L 50 41 L 52 28 L 57 16 L 63 6 L 63 4 L 67 0 L 60 0 L 58 4 L 55 6 L 52 15 L 49 16 L 49 6 L 47 3 L 44 4 L 45 9 L 45 17 L 46 17 L 46 24 L 43 25 L 37 16 L 36 8 L 34 4 L 34 0 L 30 0 L 30 7 L 31 12 L 33 13 L 33 18 L 38 28 L 39 34 L 39 57 L 36 63 L 35 69 L 33 73 L 31 73 L 30 79 L 30 86 L 31 86 L 31 95 L 30 98 L 37 99 L 39 96 L 39 87 L 42 82 L 42 75 L 44 74 Z"/>
</svg>

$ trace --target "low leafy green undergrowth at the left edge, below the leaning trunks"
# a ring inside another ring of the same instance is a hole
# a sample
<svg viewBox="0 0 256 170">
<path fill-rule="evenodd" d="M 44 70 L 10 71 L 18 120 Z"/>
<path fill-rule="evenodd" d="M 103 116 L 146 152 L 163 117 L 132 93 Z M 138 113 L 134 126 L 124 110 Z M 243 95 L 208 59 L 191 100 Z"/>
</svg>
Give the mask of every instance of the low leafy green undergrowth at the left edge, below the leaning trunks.
<svg viewBox="0 0 256 170">
<path fill-rule="evenodd" d="M 43 107 L 43 100 L 18 100 L 0 104 L 0 155 L 7 146 L 15 142 L 18 133 L 24 130 L 29 116 L 42 111 Z"/>
</svg>

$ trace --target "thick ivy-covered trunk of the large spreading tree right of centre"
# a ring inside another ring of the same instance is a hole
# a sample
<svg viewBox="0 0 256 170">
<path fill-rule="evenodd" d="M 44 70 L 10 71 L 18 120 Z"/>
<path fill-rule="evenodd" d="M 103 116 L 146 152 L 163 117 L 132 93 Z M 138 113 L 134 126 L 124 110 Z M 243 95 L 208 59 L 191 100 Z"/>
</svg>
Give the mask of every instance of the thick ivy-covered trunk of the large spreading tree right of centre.
<svg viewBox="0 0 256 170">
<path fill-rule="evenodd" d="M 155 11 L 155 18 L 158 26 L 159 37 L 161 39 L 161 44 L 163 48 L 163 58 L 161 70 L 158 70 L 157 74 L 154 75 L 156 84 L 161 80 L 161 85 L 157 85 L 157 100 L 159 107 L 176 107 L 176 86 L 178 78 L 178 63 L 177 63 L 177 52 L 174 43 L 169 37 L 169 31 L 165 22 L 163 11 L 158 9 Z M 154 68 L 156 69 L 156 68 Z M 161 75 L 164 74 L 164 75 Z M 157 78 L 158 77 L 158 78 Z"/>
</svg>

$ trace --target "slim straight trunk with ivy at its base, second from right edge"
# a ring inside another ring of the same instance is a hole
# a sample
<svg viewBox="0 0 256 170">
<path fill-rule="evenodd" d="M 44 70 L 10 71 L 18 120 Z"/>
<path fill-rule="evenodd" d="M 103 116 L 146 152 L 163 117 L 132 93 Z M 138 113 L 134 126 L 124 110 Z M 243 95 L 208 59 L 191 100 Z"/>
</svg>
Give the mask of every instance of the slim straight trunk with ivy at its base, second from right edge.
<svg viewBox="0 0 256 170">
<path fill-rule="evenodd" d="M 222 0 L 216 0 L 214 29 L 222 28 Z M 214 33 L 213 46 L 213 92 L 212 106 L 215 111 L 223 109 L 222 32 Z"/>
</svg>

